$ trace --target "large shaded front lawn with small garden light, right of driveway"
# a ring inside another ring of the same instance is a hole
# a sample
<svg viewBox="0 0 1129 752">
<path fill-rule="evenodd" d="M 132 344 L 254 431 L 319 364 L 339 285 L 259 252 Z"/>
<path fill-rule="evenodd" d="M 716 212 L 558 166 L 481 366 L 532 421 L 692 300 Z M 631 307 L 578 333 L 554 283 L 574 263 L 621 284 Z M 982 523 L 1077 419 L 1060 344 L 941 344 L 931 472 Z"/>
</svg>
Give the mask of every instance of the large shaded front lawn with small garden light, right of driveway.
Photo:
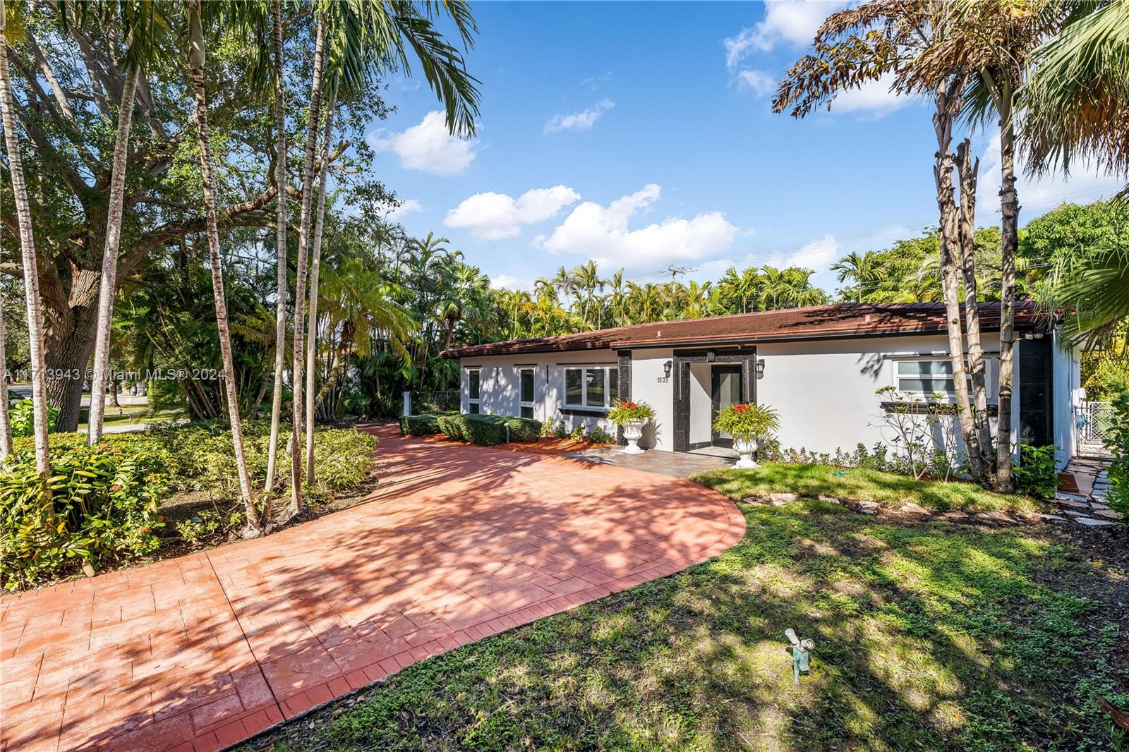
<svg viewBox="0 0 1129 752">
<path fill-rule="evenodd" d="M 1124 571 L 1050 527 L 741 505 L 675 576 L 405 668 L 281 750 L 1114 750 Z M 816 647 L 793 684 L 784 631 Z"/>
</svg>

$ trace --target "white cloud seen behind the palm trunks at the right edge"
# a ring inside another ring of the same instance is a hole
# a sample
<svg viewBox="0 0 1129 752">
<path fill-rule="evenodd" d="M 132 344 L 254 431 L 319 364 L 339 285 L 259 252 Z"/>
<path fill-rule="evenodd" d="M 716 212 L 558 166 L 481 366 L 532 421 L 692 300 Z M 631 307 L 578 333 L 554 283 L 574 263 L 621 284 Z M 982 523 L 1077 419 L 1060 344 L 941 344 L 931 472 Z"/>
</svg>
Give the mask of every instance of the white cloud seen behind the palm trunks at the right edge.
<svg viewBox="0 0 1129 752">
<path fill-rule="evenodd" d="M 1039 178 L 1023 174 L 1024 155 L 1017 155 L 1015 163 L 1019 170 L 1015 191 L 1019 194 L 1022 207 L 1021 221 L 1043 215 L 1060 203 L 1089 203 L 1105 199 L 1126 185 L 1124 176 L 1096 169 L 1086 161 L 1075 163 L 1069 176 L 1057 170 Z M 980 159 L 980 175 L 977 178 L 977 207 L 980 210 L 979 224 L 996 225 L 999 222 L 999 132 L 997 131 L 984 149 Z"/>
</svg>

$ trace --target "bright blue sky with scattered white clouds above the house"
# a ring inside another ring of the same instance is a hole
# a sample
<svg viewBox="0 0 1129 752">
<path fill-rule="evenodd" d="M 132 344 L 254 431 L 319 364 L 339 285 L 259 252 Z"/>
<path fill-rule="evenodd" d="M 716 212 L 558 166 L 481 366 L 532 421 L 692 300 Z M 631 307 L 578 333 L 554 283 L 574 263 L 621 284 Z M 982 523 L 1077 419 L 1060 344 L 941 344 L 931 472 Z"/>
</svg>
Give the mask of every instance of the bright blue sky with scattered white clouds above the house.
<svg viewBox="0 0 1129 752">
<path fill-rule="evenodd" d="M 449 238 L 499 287 L 594 259 L 605 276 L 720 277 L 729 265 L 828 268 L 937 221 L 928 103 L 882 84 L 804 120 L 771 112 L 826 2 L 479 2 L 470 139 L 422 79 L 390 81 L 374 169 L 409 234 Z M 999 141 L 981 157 L 978 224 L 999 221 Z M 1075 169 L 1018 184 L 1021 222 L 1124 181 Z"/>
</svg>

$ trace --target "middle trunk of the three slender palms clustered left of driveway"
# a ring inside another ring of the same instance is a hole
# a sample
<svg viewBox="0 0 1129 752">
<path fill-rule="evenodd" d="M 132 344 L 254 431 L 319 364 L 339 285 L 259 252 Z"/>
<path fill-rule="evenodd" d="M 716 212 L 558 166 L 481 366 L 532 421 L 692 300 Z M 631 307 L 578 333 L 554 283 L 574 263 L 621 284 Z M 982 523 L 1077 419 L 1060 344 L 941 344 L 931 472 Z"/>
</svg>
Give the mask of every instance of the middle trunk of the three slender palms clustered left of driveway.
<svg viewBox="0 0 1129 752">
<path fill-rule="evenodd" d="M 290 514 L 301 514 L 301 419 L 303 355 L 306 351 L 306 253 L 309 247 L 309 203 L 314 195 L 314 157 L 317 151 L 317 126 L 322 113 L 322 63 L 325 53 L 325 18 L 318 15 L 317 37 L 314 43 L 313 89 L 309 96 L 309 123 L 306 130 L 306 160 L 301 167 L 301 212 L 298 222 L 298 270 L 295 274 L 294 296 L 294 406 L 290 417 Z"/>
</svg>

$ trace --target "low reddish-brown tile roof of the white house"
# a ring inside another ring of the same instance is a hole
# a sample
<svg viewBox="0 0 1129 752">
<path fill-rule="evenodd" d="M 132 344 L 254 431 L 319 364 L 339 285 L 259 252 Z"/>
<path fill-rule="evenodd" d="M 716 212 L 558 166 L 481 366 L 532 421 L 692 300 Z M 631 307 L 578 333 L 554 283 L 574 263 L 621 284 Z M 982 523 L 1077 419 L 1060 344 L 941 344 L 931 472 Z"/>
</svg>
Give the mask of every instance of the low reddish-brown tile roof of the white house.
<svg viewBox="0 0 1129 752">
<path fill-rule="evenodd" d="M 999 330 L 998 303 L 981 303 L 978 311 L 980 312 L 981 330 Z M 1033 301 L 1016 303 L 1016 329 L 1032 329 L 1040 323 L 1049 322 L 1039 313 Z M 879 334 L 919 334 L 944 332 L 945 325 L 945 306 L 942 303 L 838 303 L 811 308 L 786 308 L 784 311 L 763 311 L 711 318 L 654 322 L 563 336 L 508 340 L 455 348 L 440 355 L 445 358 L 470 358 L 561 350 L 736 344 Z"/>
</svg>

